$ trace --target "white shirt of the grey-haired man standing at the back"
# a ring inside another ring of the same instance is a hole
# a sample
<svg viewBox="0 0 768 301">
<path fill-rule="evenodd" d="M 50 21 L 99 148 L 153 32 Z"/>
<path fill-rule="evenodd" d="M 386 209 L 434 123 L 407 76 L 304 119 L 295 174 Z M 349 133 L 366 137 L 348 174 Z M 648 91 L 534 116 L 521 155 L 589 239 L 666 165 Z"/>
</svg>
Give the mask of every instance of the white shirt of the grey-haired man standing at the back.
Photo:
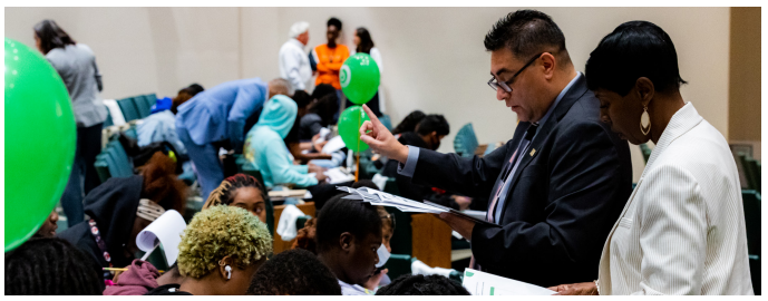
<svg viewBox="0 0 768 301">
<path fill-rule="evenodd" d="M 296 39 L 290 39 L 280 47 L 280 77 L 291 81 L 296 90 L 305 90 L 307 81 L 312 78 L 304 45 Z"/>
</svg>

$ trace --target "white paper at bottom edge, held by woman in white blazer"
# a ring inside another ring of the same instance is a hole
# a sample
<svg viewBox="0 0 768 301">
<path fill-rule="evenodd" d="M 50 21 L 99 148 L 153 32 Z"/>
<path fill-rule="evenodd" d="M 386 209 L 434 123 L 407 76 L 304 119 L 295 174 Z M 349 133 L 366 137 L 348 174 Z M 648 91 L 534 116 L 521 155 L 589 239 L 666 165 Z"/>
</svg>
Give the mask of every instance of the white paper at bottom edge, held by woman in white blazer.
<svg viewBox="0 0 768 301">
<path fill-rule="evenodd" d="M 464 270 L 464 288 L 473 295 L 551 295 L 555 291 L 473 269 Z"/>
</svg>

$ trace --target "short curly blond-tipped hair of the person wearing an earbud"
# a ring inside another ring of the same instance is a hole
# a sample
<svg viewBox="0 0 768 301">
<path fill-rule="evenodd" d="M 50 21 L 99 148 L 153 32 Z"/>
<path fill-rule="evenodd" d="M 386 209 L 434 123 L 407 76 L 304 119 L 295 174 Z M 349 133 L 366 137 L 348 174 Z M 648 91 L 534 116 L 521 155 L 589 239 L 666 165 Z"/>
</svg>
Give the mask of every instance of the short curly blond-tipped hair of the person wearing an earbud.
<svg viewBox="0 0 768 301">
<path fill-rule="evenodd" d="M 247 211 L 213 206 L 195 214 L 178 244 L 178 271 L 184 276 L 203 278 L 218 268 L 224 256 L 241 269 L 272 252 L 266 225 Z"/>
</svg>

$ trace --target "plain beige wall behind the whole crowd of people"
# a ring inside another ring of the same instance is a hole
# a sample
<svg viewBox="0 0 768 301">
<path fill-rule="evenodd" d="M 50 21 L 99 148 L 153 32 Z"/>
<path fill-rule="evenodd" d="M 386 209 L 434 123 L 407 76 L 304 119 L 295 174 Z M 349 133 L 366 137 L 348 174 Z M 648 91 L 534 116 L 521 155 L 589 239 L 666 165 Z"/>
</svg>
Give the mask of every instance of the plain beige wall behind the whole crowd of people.
<svg viewBox="0 0 768 301">
<path fill-rule="evenodd" d="M 473 123 L 480 143 L 507 140 L 515 114 L 495 99 L 483 38 L 516 8 L 6 8 L 6 37 L 33 45 L 32 26 L 57 20 L 97 55 L 105 98 L 156 91 L 173 95 L 197 81 L 212 87 L 241 77 L 274 78 L 291 23 L 311 23 L 310 46 L 324 42 L 325 21 L 343 21 L 343 42 L 364 26 L 381 50 L 387 111 L 395 123 L 414 109 L 440 113 L 453 151 L 460 126 Z M 729 8 L 541 8 L 558 23 L 576 68 L 600 39 L 624 21 L 649 20 L 675 43 L 690 84 L 686 100 L 728 137 Z M 643 163 L 633 152 L 635 181 Z"/>
</svg>

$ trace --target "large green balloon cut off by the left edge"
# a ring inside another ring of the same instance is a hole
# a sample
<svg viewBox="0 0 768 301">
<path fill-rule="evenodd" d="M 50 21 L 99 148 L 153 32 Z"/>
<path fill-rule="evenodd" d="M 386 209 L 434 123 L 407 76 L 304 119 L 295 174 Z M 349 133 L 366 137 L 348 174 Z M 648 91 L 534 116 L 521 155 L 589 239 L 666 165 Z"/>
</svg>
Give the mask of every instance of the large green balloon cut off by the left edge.
<svg viewBox="0 0 768 301">
<path fill-rule="evenodd" d="M 6 252 L 48 217 L 69 179 L 75 116 L 67 88 L 37 50 L 6 38 Z"/>
</svg>

